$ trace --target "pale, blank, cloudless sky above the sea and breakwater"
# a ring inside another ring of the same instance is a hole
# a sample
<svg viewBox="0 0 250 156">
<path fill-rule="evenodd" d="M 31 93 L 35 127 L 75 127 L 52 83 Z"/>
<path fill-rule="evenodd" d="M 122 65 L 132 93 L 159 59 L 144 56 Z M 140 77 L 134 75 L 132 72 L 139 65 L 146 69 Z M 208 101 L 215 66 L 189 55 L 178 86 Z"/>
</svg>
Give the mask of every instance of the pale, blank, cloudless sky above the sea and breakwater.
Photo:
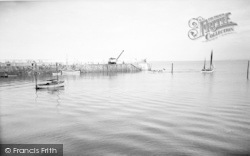
<svg viewBox="0 0 250 156">
<path fill-rule="evenodd" d="M 204 42 L 188 22 L 231 12 L 235 32 Z M 0 2 L 0 60 L 107 62 L 250 59 L 248 0 Z"/>
</svg>

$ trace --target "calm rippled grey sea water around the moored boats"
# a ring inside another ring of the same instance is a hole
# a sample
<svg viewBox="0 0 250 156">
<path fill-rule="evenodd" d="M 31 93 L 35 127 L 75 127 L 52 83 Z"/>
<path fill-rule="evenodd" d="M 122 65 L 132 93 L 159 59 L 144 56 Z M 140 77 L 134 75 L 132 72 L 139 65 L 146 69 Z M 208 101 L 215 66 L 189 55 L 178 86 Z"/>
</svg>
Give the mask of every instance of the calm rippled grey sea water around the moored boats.
<svg viewBox="0 0 250 156">
<path fill-rule="evenodd" d="M 62 143 L 64 155 L 250 154 L 246 61 L 153 62 L 163 73 L 61 77 L 61 90 L 32 78 L 0 79 L 2 143 Z M 41 80 L 51 77 L 41 77 Z"/>
</svg>

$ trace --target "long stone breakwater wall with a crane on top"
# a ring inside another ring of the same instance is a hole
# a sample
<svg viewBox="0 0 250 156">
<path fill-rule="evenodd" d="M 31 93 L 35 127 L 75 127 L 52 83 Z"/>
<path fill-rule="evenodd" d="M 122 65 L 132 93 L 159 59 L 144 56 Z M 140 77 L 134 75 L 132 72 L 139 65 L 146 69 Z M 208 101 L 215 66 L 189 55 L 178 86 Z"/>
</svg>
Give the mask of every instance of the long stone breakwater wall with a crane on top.
<svg viewBox="0 0 250 156">
<path fill-rule="evenodd" d="M 57 67 L 58 71 L 66 69 L 80 70 L 81 73 L 97 73 L 97 72 L 139 72 L 141 68 L 136 64 L 78 64 L 78 65 L 61 65 Z M 33 75 L 34 67 L 29 66 L 0 66 L 0 76 L 17 75 L 29 76 Z M 42 75 L 52 74 L 56 72 L 56 65 L 37 65 L 37 71 Z"/>
</svg>

